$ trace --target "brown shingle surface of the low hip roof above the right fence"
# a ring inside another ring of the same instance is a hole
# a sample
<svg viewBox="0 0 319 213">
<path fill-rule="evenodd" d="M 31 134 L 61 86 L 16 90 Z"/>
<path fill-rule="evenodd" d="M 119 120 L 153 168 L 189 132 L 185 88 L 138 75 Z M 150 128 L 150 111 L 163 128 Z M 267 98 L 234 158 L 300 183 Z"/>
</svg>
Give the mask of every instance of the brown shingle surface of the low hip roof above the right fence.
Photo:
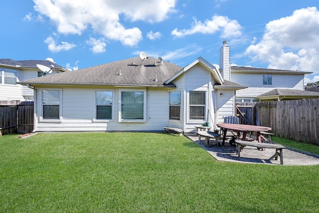
<svg viewBox="0 0 319 213">
<path fill-rule="evenodd" d="M 319 97 L 318 92 L 302 91 L 296 89 L 273 89 L 269 92 L 263 93 L 257 97 L 265 96 L 308 96 Z"/>
</svg>

